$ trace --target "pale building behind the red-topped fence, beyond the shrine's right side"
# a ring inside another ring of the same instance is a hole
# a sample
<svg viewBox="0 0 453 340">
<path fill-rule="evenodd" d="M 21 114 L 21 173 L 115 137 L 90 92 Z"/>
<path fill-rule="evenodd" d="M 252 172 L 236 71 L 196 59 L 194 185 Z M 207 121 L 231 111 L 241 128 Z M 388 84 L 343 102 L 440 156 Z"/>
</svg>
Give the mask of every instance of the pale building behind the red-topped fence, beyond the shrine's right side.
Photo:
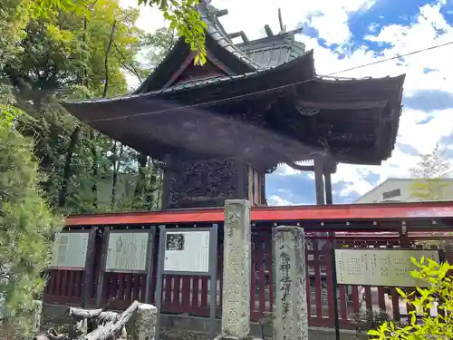
<svg viewBox="0 0 453 340">
<path fill-rule="evenodd" d="M 412 185 L 418 179 L 387 179 L 357 199 L 355 203 L 385 203 L 385 202 L 419 202 L 422 199 L 414 196 Z M 441 180 L 441 200 L 453 200 L 453 179 Z M 448 185 L 451 182 L 451 185 Z"/>
</svg>

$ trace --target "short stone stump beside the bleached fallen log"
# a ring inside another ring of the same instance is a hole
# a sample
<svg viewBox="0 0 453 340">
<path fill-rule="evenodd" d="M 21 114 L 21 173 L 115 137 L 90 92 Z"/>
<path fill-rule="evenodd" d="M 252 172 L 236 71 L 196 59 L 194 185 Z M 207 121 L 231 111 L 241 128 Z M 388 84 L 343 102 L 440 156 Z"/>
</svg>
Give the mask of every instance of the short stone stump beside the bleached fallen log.
<svg viewBox="0 0 453 340">
<path fill-rule="evenodd" d="M 142 304 L 137 309 L 135 316 L 130 320 L 130 333 L 132 340 L 154 340 L 156 335 L 156 321 L 158 308 Z"/>
</svg>

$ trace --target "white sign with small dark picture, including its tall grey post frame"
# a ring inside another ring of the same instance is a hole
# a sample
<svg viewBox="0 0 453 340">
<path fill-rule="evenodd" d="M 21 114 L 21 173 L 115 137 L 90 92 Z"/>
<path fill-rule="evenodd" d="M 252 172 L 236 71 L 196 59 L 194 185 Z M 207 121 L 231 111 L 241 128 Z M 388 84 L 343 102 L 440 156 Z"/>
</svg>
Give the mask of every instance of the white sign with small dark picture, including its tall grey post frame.
<svg viewBox="0 0 453 340">
<path fill-rule="evenodd" d="M 217 224 L 211 228 L 159 228 L 159 261 L 155 299 L 159 340 L 162 280 L 164 275 L 209 277 L 209 339 L 214 340 L 217 301 Z M 179 279 L 179 277 L 177 278 Z"/>
</svg>

